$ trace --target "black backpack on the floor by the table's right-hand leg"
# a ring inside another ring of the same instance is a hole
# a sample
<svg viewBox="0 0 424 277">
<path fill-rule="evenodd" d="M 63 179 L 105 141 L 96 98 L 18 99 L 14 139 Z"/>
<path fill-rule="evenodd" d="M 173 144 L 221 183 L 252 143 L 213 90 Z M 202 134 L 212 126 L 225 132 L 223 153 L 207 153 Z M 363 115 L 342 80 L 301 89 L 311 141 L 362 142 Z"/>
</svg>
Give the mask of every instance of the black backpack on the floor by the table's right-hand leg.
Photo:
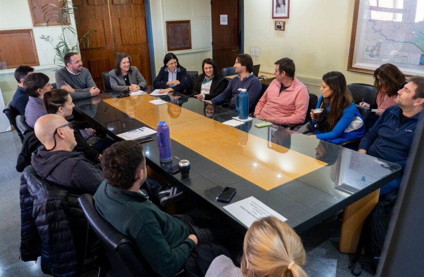
<svg viewBox="0 0 424 277">
<path fill-rule="evenodd" d="M 374 273 L 377 270 L 396 196 L 397 190 L 386 194 L 384 200 L 378 202 L 366 217 L 356 247 L 355 257 L 352 264 L 349 265 L 354 276 L 360 276 L 362 273 L 363 264 L 358 262 L 362 249 L 364 249 L 365 255 L 371 259 L 371 267 Z"/>
</svg>

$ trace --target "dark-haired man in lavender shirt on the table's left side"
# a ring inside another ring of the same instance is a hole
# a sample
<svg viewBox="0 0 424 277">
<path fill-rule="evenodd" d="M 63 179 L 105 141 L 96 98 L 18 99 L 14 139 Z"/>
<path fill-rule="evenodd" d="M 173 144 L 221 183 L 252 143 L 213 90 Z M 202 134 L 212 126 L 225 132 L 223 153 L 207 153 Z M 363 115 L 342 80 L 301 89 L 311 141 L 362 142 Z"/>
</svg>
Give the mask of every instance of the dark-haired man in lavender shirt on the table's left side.
<svg viewBox="0 0 424 277">
<path fill-rule="evenodd" d="M 28 94 L 28 103 L 25 107 L 25 121 L 31 128 L 34 128 L 35 122 L 47 114 L 43 104 L 44 93 L 52 90 L 49 83 L 49 77 L 44 73 L 33 73 L 25 78 L 24 86 Z"/>
</svg>

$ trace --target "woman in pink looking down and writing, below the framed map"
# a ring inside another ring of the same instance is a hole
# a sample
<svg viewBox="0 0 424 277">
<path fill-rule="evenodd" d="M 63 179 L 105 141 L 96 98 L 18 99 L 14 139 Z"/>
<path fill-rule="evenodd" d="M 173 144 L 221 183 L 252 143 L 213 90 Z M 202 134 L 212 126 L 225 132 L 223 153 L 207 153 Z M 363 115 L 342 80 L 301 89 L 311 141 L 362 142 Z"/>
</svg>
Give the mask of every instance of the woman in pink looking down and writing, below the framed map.
<svg viewBox="0 0 424 277">
<path fill-rule="evenodd" d="M 377 111 L 381 116 L 386 108 L 396 105 L 395 98 L 398 90 L 405 86 L 405 75 L 397 66 L 392 64 L 381 65 L 374 71 L 374 87 L 377 88 Z M 361 106 L 370 107 L 368 103 L 361 102 Z M 375 107 L 371 107 L 375 108 Z"/>
</svg>

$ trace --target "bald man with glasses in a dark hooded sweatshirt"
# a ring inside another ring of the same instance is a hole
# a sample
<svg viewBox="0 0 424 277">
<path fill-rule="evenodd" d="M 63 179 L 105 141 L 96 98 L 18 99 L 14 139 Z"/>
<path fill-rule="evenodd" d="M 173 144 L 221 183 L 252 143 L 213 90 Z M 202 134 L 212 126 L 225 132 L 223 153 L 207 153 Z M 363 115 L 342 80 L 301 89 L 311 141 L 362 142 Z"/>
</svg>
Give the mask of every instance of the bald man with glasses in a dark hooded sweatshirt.
<svg viewBox="0 0 424 277">
<path fill-rule="evenodd" d="M 83 154 L 72 152 L 77 145 L 70 122 L 56 114 L 40 117 L 34 125 L 45 149 L 31 158 L 37 174 L 73 194 L 94 194 L 104 176 Z"/>
</svg>

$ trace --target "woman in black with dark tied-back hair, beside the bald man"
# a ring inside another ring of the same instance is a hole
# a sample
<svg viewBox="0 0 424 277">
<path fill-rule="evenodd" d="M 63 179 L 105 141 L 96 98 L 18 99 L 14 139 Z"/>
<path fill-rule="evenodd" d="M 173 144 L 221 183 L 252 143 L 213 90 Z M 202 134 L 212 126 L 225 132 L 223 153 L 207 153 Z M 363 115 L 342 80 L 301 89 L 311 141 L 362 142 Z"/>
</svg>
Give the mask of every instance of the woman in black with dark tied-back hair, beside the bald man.
<svg viewBox="0 0 424 277">
<path fill-rule="evenodd" d="M 58 114 L 64 118 L 72 115 L 74 103 L 71 95 L 64 89 L 52 89 L 44 94 L 44 106 L 48 114 Z M 77 141 L 77 146 L 74 151 L 82 152 L 84 156 L 93 163 L 98 163 L 101 153 L 104 149 L 111 146 L 113 140 L 110 138 L 96 137 L 96 130 L 90 127 L 87 122 L 72 121 L 74 125 L 74 136 Z M 92 134 L 87 140 L 84 139 L 83 133 L 89 132 Z"/>
</svg>

